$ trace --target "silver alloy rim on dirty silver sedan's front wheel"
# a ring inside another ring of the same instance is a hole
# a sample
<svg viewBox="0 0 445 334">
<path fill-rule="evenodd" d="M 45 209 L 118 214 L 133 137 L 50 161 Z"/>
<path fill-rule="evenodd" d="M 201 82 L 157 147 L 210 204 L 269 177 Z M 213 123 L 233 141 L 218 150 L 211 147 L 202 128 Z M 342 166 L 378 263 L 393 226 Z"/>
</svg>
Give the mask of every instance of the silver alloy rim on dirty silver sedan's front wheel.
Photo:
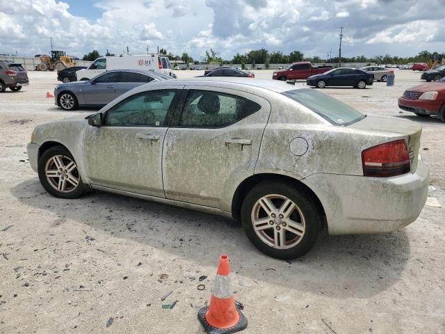
<svg viewBox="0 0 445 334">
<path fill-rule="evenodd" d="M 48 183 L 60 193 L 70 193 L 79 186 L 79 170 L 69 157 L 55 155 L 44 166 Z"/>
</svg>

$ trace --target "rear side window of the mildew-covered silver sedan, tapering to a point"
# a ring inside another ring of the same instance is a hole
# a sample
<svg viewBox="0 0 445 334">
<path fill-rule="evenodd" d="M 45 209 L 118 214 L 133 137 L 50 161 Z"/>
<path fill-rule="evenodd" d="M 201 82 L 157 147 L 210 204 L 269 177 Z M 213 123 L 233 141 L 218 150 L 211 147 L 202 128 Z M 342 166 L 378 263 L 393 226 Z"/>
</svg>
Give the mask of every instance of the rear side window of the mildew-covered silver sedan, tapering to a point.
<svg viewBox="0 0 445 334">
<path fill-rule="evenodd" d="M 259 104 L 244 97 L 209 90 L 190 90 L 179 126 L 225 127 L 259 109 Z"/>
</svg>

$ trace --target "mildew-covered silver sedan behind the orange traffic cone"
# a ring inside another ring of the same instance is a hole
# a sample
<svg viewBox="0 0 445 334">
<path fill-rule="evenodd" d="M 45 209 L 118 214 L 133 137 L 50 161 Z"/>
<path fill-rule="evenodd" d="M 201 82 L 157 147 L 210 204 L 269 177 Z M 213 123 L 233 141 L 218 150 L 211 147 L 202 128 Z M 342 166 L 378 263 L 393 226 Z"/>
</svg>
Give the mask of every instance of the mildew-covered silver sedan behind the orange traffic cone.
<svg viewBox="0 0 445 334">
<path fill-rule="evenodd" d="M 421 127 L 366 116 L 307 86 L 249 78 L 158 81 L 87 118 L 38 125 L 44 189 L 90 189 L 240 218 L 254 246 L 299 257 L 321 228 L 380 233 L 426 202 Z"/>
</svg>

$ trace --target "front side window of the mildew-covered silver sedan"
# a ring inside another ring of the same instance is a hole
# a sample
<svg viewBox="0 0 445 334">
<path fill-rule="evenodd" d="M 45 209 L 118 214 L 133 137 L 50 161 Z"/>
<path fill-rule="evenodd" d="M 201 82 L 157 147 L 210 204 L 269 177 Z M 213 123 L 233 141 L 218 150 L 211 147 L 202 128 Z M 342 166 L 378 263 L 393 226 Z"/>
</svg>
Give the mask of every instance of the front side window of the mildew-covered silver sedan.
<svg viewBox="0 0 445 334">
<path fill-rule="evenodd" d="M 114 127 L 162 127 L 177 90 L 150 90 L 133 95 L 106 113 L 105 125 Z"/>
</svg>

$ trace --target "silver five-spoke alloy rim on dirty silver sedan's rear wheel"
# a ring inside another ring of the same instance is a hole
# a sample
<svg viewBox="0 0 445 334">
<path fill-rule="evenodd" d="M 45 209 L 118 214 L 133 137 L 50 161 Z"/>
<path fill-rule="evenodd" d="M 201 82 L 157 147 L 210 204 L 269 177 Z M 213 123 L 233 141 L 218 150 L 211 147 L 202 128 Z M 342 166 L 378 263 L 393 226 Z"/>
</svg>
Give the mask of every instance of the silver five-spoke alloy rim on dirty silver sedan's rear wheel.
<svg viewBox="0 0 445 334">
<path fill-rule="evenodd" d="M 250 218 L 259 239 L 273 248 L 292 248 L 305 235 L 305 216 L 286 196 L 261 197 L 254 204 Z"/>
</svg>

